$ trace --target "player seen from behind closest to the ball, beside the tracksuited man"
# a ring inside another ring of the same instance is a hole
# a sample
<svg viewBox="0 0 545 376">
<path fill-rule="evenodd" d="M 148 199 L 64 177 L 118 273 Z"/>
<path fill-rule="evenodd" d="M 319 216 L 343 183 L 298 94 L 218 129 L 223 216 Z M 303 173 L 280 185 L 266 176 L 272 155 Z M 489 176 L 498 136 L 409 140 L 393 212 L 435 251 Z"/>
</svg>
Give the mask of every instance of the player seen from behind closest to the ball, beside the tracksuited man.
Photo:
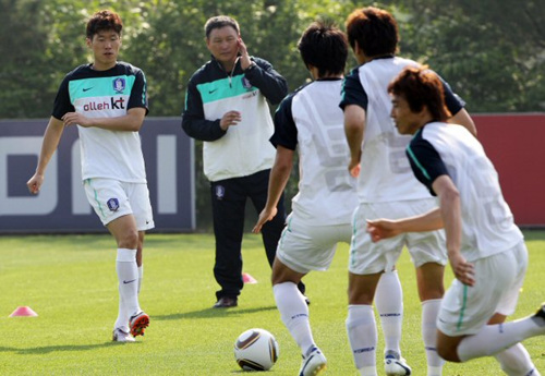
<svg viewBox="0 0 545 376">
<path fill-rule="evenodd" d="M 339 242 L 350 243 L 358 196 L 355 179 L 346 170 L 350 153 L 338 107 L 348 57 L 346 36 L 337 27 L 317 22 L 306 28 L 298 48 L 314 81 L 284 98 L 275 114 L 270 142 L 276 159 L 267 203 L 254 232 L 275 217 L 298 149 L 299 193 L 278 244 L 272 290 L 281 319 L 303 354 L 299 375 L 306 376 L 317 375 L 327 361 L 314 342 L 308 307 L 296 284 L 311 270 L 326 270 Z M 385 274 L 377 289 L 377 300 L 383 302 L 378 311 L 387 315 L 389 305 L 401 304 L 401 296 L 397 274 Z"/>
</svg>

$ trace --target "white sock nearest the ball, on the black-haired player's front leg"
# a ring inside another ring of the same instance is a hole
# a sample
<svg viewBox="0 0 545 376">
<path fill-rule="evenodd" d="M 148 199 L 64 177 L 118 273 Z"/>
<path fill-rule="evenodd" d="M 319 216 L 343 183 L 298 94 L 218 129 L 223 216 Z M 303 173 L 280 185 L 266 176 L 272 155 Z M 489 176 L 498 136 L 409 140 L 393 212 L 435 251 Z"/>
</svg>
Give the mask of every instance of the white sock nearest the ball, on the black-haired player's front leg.
<svg viewBox="0 0 545 376">
<path fill-rule="evenodd" d="M 276 305 L 282 323 L 295 340 L 302 354 L 314 344 L 308 322 L 308 306 L 298 286 L 293 282 L 278 283 L 272 287 Z"/>
</svg>

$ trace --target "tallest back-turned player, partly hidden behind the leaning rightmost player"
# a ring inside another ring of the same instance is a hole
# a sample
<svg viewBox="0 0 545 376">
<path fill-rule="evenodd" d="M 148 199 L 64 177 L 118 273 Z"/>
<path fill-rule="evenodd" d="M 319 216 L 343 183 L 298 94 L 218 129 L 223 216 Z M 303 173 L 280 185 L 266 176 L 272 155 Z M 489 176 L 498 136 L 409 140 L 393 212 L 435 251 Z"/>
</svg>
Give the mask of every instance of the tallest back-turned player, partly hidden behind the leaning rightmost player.
<svg viewBox="0 0 545 376">
<path fill-rule="evenodd" d="M 354 11 L 347 20 L 347 34 L 361 64 L 347 76 L 341 108 L 351 149 L 350 172 L 359 175 L 359 206 L 350 250 L 349 313 L 347 330 L 356 368 L 361 375 L 375 376 L 377 332 L 373 302 L 384 271 L 395 267 L 403 246 L 409 248 L 416 268 L 422 301 L 422 336 L 427 356 L 427 375 L 441 375 L 444 361 L 435 349 L 435 318 L 444 294 L 443 276 L 447 255 L 444 233 L 431 231 L 404 234 L 374 244 L 365 232 L 370 218 L 405 217 L 436 207 L 436 201 L 411 173 L 404 147 L 410 137 L 399 135 L 389 117 L 391 104 L 387 86 L 404 66 L 416 62 L 395 56 L 399 35 L 388 12 L 376 8 Z M 456 121 L 474 131 L 463 101 L 448 90 L 448 105 Z M 390 326 L 401 327 L 399 315 L 386 317 Z M 383 318 L 384 320 L 385 318 Z M 383 324 L 384 326 L 384 324 Z M 399 343 L 399 341 L 397 342 Z M 399 344 L 386 341 L 384 366 L 387 375 L 410 375 Z"/>
</svg>

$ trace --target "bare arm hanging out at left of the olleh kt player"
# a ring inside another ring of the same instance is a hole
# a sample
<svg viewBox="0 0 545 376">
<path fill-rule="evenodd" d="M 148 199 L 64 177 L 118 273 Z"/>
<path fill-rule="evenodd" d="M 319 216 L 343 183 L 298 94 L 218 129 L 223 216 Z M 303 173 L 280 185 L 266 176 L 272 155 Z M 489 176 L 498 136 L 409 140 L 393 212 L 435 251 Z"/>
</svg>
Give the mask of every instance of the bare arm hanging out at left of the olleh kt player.
<svg viewBox="0 0 545 376">
<path fill-rule="evenodd" d="M 32 194 L 38 194 L 44 184 L 44 179 L 46 174 L 46 168 L 49 160 L 57 150 L 59 146 L 59 141 L 61 140 L 62 132 L 64 131 L 64 125 L 61 120 L 51 117 L 49 123 L 46 128 L 46 133 L 44 134 L 44 141 L 41 143 L 41 151 L 38 159 L 38 166 L 36 167 L 36 172 L 26 182 L 26 186 Z"/>
</svg>

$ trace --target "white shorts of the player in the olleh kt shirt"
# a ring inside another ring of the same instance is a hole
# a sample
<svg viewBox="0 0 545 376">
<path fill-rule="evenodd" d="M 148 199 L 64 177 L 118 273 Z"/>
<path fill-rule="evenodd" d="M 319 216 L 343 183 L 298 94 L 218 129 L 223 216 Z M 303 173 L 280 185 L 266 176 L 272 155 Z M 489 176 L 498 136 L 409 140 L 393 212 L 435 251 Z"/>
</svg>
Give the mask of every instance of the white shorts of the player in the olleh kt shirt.
<svg viewBox="0 0 545 376">
<path fill-rule="evenodd" d="M 104 226 L 117 218 L 133 215 L 138 231 L 155 227 L 147 184 L 113 179 L 85 179 L 83 185 L 90 206 Z"/>
</svg>

